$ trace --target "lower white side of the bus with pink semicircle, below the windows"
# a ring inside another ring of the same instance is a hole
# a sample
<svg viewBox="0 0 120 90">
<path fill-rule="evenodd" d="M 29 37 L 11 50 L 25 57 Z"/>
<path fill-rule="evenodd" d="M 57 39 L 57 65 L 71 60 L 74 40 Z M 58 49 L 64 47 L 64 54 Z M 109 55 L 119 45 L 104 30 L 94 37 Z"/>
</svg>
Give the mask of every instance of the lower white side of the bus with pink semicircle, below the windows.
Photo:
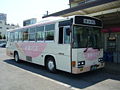
<svg viewBox="0 0 120 90">
<path fill-rule="evenodd" d="M 71 72 L 69 44 L 57 45 L 53 42 L 13 42 L 12 46 L 14 48 L 9 47 L 7 50 L 11 51 L 13 57 L 14 52 L 17 51 L 21 60 L 44 66 L 45 56 L 50 55 L 54 57 L 58 70 Z"/>
</svg>

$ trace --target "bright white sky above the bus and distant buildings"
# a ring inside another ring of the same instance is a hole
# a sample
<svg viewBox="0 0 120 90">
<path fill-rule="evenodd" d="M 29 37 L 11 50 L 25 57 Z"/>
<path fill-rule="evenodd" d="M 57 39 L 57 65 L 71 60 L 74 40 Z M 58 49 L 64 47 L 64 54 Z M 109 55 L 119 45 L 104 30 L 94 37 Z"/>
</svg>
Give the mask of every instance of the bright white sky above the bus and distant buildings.
<svg viewBox="0 0 120 90">
<path fill-rule="evenodd" d="M 23 25 L 23 20 L 40 21 L 46 11 L 55 13 L 69 8 L 69 0 L 0 0 L 0 13 L 7 14 L 7 23 Z"/>
</svg>

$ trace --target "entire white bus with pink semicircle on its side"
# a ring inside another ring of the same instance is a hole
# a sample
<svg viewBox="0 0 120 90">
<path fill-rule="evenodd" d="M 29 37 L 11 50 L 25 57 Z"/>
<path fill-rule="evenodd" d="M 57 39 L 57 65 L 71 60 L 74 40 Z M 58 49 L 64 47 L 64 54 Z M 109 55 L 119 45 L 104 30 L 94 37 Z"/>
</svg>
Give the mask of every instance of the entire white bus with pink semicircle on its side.
<svg viewBox="0 0 120 90">
<path fill-rule="evenodd" d="M 104 67 L 102 22 L 88 16 L 43 20 L 7 31 L 7 55 L 16 62 L 79 74 Z"/>
</svg>

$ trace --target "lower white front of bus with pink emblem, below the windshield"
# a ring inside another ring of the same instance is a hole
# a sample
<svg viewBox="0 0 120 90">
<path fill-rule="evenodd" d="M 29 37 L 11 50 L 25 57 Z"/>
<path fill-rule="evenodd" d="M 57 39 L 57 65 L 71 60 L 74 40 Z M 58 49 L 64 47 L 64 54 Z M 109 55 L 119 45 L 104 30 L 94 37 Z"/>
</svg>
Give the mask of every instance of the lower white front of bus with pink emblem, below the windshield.
<svg viewBox="0 0 120 90">
<path fill-rule="evenodd" d="M 84 52 L 85 49 L 72 49 L 72 60 L 76 62 L 76 66 L 72 67 L 74 74 L 91 71 L 92 66 L 95 66 L 94 70 L 104 67 L 104 63 L 99 61 L 103 57 L 103 49 L 88 48 L 88 51 Z M 79 65 L 80 62 L 84 64 Z"/>
</svg>

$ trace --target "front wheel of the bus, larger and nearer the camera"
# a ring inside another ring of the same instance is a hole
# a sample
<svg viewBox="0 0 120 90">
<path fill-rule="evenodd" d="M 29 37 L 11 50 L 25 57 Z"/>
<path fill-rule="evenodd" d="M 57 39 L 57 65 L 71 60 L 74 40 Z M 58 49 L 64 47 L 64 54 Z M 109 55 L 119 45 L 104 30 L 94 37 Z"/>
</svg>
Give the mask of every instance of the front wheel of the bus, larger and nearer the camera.
<svg viewBox="0 0 120 90">
<path fill-rule="evenodd" d="M 56 63 L 53 57 L 47 58 L 46 68 L 48 71 L 55 73 L 56 72 Z"/>
</svg>

